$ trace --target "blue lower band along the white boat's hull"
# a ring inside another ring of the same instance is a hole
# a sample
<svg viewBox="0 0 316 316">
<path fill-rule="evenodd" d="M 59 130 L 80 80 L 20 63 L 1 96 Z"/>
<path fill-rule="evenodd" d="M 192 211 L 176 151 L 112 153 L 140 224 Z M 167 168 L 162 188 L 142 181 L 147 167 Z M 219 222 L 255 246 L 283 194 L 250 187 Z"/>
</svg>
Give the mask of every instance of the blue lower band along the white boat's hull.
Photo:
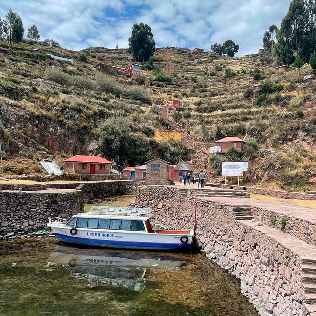
<svg viewBox="0 0 316 316">
<path fill-rule="evenodd" d="M 81 238 L 75 236 L 67 236 L 63 234 L 57 234 L 56 236 L 64 241 L 73 244 L 82 244 L 88 246 L 98 246 L 107 248 L 132 248 L 132 249 L 157 249 L 157 250 L 168 250 L 168 249 L 188 249 L 191 244 L 167 244 L 159 242 L 143 242 L 143 241 L 118 241 L 118 240 L 99 240 Z"/>
</svg>

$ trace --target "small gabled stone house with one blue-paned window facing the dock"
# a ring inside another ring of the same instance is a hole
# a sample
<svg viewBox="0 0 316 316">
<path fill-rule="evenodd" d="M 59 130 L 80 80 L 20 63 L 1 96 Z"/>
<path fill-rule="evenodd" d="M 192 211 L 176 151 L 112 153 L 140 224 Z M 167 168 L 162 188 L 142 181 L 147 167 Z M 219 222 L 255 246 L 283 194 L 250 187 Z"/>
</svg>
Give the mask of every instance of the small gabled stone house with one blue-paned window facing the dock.
<svg viewBox="0 0 316 316">
<path fill-rule="evenodd" d="M 171 163 L 160 158 L 146 162 L 146 185 L 166 185 Z"/>
</svg>

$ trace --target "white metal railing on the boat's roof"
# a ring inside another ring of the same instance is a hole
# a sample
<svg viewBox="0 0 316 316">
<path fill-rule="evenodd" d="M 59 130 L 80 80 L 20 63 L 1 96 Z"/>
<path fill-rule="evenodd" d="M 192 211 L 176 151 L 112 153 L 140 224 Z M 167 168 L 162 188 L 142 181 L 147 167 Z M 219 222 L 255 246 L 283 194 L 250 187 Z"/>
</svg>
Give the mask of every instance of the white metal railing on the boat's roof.
<svg viewBox="0 0 316 316">
<path fill-rule="evenodd" d="M 110 206 L 92 206 L 88 213 L 89 215 L 107 215 L 107 216 L 133 216 L 133 217 L 151 217 L 149 209 L 137 207 L 110 207 Z"/>
</svg>

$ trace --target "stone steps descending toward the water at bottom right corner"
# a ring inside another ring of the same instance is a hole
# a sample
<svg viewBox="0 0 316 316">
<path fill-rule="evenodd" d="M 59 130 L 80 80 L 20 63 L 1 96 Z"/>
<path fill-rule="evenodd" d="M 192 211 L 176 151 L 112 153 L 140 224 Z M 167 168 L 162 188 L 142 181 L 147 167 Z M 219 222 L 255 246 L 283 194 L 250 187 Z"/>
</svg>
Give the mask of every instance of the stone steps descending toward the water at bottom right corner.
<svg viewBox="0 0 316 316">
<path fill-rule="evenodd" d="M 316 259 L 302 258 L 302 281 L 306 307 L 312 316 L 316 315 Z"/>
</svg>

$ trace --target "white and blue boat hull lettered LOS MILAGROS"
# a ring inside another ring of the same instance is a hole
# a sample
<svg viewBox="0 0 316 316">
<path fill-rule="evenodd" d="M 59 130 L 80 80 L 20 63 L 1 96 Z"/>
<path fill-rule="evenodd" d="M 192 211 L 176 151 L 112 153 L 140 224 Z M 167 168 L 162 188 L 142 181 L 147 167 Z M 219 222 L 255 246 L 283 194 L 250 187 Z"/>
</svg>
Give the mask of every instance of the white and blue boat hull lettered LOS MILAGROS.
<svg viewBox="0 0 316 316">
<path fill-rule="evenodd" d="M 104 229 L 77 228 L 76 235 L 70 234 L 69 227 L 50 225 L 55 235 L 62 241 L 87 246 L 125 249 L 178 250 L 191 248 L 192 234 L 157 234 L 147 232 L 123 232 Z M 182 243 L 182 236 L 188 241 Z"/>
</svg>

